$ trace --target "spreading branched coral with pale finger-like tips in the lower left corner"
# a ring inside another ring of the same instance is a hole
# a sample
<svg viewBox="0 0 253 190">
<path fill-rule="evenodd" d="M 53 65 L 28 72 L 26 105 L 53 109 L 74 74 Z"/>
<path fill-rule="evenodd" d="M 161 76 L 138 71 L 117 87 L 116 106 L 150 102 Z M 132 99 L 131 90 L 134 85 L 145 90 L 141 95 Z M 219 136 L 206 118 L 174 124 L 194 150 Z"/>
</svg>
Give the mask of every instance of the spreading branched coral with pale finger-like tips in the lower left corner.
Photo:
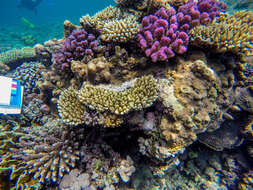
<svg viewBox="0 0 253 190">
<path fill-rule="evenodd" d="M 40 189 L 47 181 L 56 182 L 69 172 L 79 159 L 82 130 L 66 128 L 59 122 L 20 127 L 11 120 L 4 121 L 0 166 L 10 170 L 10 179 L 16 181 L 13 188 Z"/>
</svg>

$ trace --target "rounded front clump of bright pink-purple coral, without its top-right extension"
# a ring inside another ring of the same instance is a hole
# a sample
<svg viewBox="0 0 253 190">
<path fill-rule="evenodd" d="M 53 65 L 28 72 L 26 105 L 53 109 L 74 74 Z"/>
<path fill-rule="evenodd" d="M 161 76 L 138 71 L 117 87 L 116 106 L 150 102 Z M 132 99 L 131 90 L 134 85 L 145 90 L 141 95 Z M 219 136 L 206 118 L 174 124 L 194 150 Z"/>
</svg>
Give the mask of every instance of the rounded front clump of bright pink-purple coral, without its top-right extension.
<svg viewBox="0 0 253 190">
<path fill-rule="evenodd" d="M 138 41 L 147 57 L 153 62 L 165 61 L 187 50 L 189 36 L 178 30 L 179 23 L 175 9 L 158 10 L 155 15 L 143 18 Z"/>
</svg>

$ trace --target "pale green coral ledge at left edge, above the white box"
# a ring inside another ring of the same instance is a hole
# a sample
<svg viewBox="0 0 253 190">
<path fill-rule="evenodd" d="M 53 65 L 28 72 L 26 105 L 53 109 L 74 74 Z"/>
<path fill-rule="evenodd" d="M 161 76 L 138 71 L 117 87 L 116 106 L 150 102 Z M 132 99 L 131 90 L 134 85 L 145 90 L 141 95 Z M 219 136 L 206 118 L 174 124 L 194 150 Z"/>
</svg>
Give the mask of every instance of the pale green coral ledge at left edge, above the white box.
<svg viewBox="0 0 253 190">
<path fill-rule="evenodd" d="M 24 47 L 22 49 L 13 49 L 0 54 L 0 73 L 5 73 L 13 68 L 17 63 L 23 60 L 31 60 L 36 56 L 35 49 Z"/>
</svg>

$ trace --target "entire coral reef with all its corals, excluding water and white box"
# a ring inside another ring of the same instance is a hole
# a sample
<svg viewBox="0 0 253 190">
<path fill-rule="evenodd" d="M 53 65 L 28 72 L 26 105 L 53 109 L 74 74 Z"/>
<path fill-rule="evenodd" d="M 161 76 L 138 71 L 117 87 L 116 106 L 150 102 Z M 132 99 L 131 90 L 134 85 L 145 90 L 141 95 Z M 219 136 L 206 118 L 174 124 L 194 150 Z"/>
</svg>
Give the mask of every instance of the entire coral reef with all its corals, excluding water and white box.
<svg viewBox="0 0 253 190">
<path fill-rule="evenodd" d="M 65 21 L 28 61 L 1 54 L 25 96 L 19 116 L 0 116 L 0 189 L 251 188 L 252 13 L 218 0 L 116 4 Z M 220 39 L 194 38 L 210 26 Z"/>
</svg>

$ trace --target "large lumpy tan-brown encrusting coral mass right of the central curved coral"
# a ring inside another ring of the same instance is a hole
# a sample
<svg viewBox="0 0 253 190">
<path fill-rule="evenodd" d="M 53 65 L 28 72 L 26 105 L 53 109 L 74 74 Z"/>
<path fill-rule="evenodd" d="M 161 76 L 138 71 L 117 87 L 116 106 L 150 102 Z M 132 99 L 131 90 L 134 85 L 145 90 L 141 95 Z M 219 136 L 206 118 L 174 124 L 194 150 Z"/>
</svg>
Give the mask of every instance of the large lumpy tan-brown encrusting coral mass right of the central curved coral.
<svg viewBox="0 0 253 190">
<path fill-rule="evenodd" d="M 225 75 L 229 81 L 231 73 Z M 234 101 L 229 100 L 231 86 L 222 86 L 221 80 L 204 61 L 179 61 L 167 79 L 158 81 L 158 100 L 165 110 L 158 126 L 147 132 L 153 138 L 139 139 L 140 151 L 158 160 L 170 160 L 196 141 L 198 133 L 219 128 L 222 109 L 228 106 L 225 102 Z"/>
</svg>

